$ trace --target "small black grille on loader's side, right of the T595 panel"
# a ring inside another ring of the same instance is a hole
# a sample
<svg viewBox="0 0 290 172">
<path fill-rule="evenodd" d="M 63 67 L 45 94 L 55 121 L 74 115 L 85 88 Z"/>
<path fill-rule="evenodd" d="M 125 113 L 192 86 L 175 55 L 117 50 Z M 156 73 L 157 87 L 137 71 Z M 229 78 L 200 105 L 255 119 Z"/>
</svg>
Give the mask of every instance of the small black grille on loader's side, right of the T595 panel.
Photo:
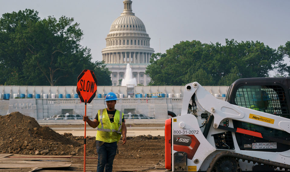
<svg viewBox="0 0 290 172">
<path fill-rule="evenodd" d="M 235 149 L 232 132 L 227 131 L 223 133 L 214 134 L 211 136 L 214 137 L 215 148 L 231 149 L 231 150 Z"/>
</svg>

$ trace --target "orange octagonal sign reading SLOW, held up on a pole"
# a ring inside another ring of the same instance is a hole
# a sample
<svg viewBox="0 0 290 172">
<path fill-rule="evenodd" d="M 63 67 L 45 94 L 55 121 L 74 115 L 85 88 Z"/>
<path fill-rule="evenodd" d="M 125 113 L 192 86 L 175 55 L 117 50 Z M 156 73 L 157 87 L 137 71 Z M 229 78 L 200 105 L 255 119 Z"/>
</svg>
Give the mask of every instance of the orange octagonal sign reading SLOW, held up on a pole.
<svg viewBox="0 0 290 172">
<path fill-rule="evenodd" d="M 76 92 L 81 102 L 90 103 L 97 93 L 97 78 L 92 70 L 84 69 L 78 77 Z"/>
</svg>

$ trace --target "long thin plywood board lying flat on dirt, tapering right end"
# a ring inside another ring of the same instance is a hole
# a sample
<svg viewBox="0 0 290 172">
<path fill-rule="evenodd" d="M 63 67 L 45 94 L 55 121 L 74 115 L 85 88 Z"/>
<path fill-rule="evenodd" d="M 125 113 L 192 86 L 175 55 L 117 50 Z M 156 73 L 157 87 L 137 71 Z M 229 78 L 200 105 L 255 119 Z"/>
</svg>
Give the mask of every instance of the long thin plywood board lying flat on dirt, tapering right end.
<svg viewBox="0 0 290 172">
<path fill-rule="evenodd" d="M 50 161 L 1 161 L 0 168 L 61 168 L 69 167 L 72 164 L 65 162 Z"/>
</svg>

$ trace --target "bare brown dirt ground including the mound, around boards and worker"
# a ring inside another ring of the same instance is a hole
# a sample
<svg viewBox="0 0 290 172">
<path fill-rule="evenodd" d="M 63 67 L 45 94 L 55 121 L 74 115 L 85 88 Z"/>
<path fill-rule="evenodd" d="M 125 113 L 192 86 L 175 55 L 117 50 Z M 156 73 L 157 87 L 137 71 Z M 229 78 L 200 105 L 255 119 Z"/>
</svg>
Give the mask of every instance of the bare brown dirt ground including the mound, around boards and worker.
<svg viewBox="0 0 290 172">
<path fill-rule="evenodd" d="M 153 126 L 155 125 L 153 124 Z M 72 166 L 59 169 L 59 171 L 83 171 L 83 137 L 73 136 L 71 133 L 60 135 L 50 127 L 52 126 L 40 126 L 34 118 L 22 115 L 19 112 L 0 116 L 0 153 L 27 156 L 72 155 L 73 158 L 69 158 L 69 161 L 72 161 Z M 164 163 L 164 145 L 165 139 L 160 136 L 127 137 L 126 144 L 121 145 L 121 141 L 118 143 L 119 154 L 115 157 L 113 170 L 150 171 L 155 169 L 155 165 Z M 95 137 L 87 137 L 86 157 L 89 157 L 86 161 L 86 171 L 96 171 L 98 155 L 95 149 Z M 27 169 L 3 170 L 11 172 L 29 171 Z M 0 172 L 3 170 L 0 169 Z M 58 169 L 37 171 L 58 171 Z"/>
</svg>

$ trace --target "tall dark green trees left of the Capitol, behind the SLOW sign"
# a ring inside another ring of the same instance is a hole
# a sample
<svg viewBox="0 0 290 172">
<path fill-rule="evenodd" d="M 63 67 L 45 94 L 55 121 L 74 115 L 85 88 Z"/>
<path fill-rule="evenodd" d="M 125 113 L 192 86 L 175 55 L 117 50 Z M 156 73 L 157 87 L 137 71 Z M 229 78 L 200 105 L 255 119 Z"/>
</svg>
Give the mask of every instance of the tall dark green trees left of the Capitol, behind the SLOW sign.
<svg viewBox="0 0 290 172">
<path fill-rule="evenodd" d="M 40 19 L 30 9 L 0 18 L 0 79 L 2 85 L 76 85 L 83 69 L 95 72 L 98 85 L 111 85 L 104 62 L 92 62 L 82 47 L 83 32 L 73 18 Z"/>
</svg>

